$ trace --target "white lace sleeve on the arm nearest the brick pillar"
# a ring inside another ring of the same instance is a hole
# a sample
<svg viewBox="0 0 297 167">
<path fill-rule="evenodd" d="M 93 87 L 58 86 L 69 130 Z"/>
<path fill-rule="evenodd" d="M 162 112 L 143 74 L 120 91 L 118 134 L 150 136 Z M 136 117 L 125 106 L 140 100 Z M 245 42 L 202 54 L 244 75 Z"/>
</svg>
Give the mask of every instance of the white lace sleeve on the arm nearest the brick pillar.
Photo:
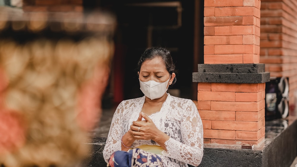
<svg viewBox="0 0 297 167">
<path fill-rule="evenodd" d="M 203 125 L 198 110 L 189 100 L 181 120 L 182 142 L 169 138 L 163 155 L 193 166 L 198 166 L 203 157 Z"/>
</svg>

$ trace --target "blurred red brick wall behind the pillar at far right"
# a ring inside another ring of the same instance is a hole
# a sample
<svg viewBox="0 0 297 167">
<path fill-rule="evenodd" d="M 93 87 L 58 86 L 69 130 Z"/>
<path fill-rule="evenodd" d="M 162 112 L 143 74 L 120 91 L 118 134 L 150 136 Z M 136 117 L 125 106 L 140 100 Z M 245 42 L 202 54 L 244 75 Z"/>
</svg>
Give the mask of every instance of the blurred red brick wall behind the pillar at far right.
<svg viewBox="0 0 297 167">
<path fill-rule="evenodd" d="M 289 78 L 289 104 L 297 90 L 297 0 L 262 0 L 260 63 L 271 76 Z"/>
</svg>

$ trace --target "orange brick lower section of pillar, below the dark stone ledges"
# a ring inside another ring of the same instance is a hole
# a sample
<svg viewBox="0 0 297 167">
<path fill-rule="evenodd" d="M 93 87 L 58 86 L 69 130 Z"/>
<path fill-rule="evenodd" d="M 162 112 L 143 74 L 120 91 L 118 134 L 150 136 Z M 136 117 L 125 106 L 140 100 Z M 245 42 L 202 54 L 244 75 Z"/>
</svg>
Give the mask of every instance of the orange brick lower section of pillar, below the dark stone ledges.
<svg viewBox="0 0 297 167">
<path fill-rule="evenodd" d="M 260 144 L 265 136 L 265 83 L 198 83 L 205 144 Z"/>
</svg>

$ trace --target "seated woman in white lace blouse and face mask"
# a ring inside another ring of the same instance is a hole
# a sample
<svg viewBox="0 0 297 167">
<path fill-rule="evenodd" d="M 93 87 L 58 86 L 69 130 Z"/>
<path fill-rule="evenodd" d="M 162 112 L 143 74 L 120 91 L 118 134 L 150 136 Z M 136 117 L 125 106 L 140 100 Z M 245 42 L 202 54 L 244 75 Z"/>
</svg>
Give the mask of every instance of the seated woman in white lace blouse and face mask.
<svg viewBox="0 0 297 167">
<path fill-rule="evenodd" d="M 108 166 L 124 162 L 127 166 L 200 164 L 203 126 L 198 110 L 192 100 L 166 92 L 176 81 L 174 70 L 167 49 L 144 51 L 138 62 L 138 75 L 145 96 L 124 100 L 117 107 L 103 150 Z"/>
</svg>

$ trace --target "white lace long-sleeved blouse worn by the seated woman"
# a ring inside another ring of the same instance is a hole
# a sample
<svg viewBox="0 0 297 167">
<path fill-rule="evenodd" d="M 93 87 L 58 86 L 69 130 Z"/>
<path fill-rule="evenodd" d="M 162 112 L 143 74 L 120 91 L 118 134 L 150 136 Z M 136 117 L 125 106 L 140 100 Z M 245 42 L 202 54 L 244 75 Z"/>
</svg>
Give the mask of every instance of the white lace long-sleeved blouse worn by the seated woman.
<svg viewBox="0 0 297 167">
<path fill-rule="evenodd" d="M 124 100 L 116 108 L 103 150 L 107 162 L 110 155 L 121 150 L 121 137 L 136 121 L 145 96 Z M 167 151 L 159 155 L 167 167 L 198 166 L 203 157 L 203 126 L 198 110 L 192 100 L 171 96 L 159 112 L 149 115 L 156 127 L 170 138 L 165 142 Z M 140 145 L 158 145 L 153 140 L 135 140 L 132 148 Z"/>
</svg>

